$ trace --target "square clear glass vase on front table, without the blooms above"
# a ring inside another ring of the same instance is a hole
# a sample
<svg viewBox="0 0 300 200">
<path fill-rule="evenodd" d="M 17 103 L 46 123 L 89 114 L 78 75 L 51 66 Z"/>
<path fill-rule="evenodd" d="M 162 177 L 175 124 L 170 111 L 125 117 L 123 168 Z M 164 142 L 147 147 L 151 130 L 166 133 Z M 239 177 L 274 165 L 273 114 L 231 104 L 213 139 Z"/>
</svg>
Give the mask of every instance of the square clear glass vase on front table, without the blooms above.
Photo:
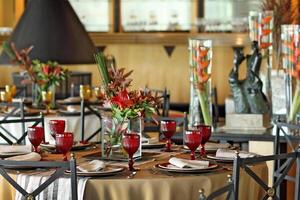
<svg viewBox="0 0 300 200">
<path fill-rule="evenodd" d="M 109 160 L 128 160 L 128 154 L 122 148 L 122 136 L 125 133 L 138 134 L 140 146 L 133 158 L 142 157 L 143 118 L 118 121 L 109 115 L 102 116 L 101 157 Z"/>
</svg>

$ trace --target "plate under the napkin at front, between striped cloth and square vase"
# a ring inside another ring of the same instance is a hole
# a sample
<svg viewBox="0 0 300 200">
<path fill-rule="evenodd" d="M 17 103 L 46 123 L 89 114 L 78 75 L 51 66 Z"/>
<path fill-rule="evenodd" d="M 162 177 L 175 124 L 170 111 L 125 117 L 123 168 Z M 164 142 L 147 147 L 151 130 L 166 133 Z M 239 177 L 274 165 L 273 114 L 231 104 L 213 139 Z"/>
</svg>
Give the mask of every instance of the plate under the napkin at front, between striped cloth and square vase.
<svg viewBox="0 0 300 200">
<path fill-rule="evenodd" d="M 97 172 L 81 172 L 77 169 L 77 176 L 89 176 L 89 177 L 93 177 L 93 176 L 113 176 L 116 174 L 121 173 L 122 171 L 124 171 L 125 167 L 121 167 L 121 166 L 106 166 L 103 170 L 97 171 Z M 70 170 L 66 170 L 67 174 L 70 174 L 71 171 Z"/>
</svg>

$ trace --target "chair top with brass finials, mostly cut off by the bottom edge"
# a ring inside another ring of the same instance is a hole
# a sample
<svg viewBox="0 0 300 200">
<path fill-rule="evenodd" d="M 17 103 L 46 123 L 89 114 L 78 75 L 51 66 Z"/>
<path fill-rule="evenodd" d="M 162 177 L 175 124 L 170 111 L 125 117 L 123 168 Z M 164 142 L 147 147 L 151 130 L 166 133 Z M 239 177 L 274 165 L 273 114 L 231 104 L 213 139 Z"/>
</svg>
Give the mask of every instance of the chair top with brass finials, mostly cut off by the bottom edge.
<svg viewBox="0 0 300 200">
<path fill-rule="evenodd" d="M 228 174 L 228 181 L 227 184 L 221 188 L 219 188 L 218 190 L 212 192 L 210 195 L 208 195 L 207 197 L 205 196 L 205 191 L 204 189 L 200 189 L 199 190 L 199 200 L 213 200 L 216 199 L 218 197 L 220 197 L 221 195 L 224 195 L 227 193 L 226 195 L 226 200 L 229 200 L 232 198 L 232 194 L 233 194 L 233 181 L 232 181 L 232 175 Z"/>
</svg>

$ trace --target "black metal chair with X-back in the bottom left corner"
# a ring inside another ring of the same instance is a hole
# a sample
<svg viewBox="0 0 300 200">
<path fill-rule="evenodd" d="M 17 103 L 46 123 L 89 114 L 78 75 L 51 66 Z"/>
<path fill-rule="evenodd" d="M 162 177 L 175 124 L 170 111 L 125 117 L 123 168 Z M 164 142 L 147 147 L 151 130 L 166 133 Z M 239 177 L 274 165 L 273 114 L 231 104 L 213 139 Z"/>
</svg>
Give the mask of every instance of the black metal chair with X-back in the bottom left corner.
<svg viewBox="0 0 300 200">
<path fill-rule="evenodd" d="M 6 166 L 9 166 L 9 169 L 12 168 L 22 168 L 22 167 L 37 167 L 45 169 L 56 169 L 55 172 L 37 189 L 32 193 L 28 193 L 23 189 L 6 171 Z M 71 160 L 66 161 L 11 161 L 11 160 L 0 160 L 0 174 L 5 178 L 21 195 L 25 200 L 34 200 L 43 190 L 45 190 L 51 183 L 56 179 L 65 174 L 66 170 L 71 171 L 71 191 L 72 191 L 72 200 L 77 200 L 77 174 L 76 174 L 76 160 L 74 155 L 71 156 Z"/>
</svg>

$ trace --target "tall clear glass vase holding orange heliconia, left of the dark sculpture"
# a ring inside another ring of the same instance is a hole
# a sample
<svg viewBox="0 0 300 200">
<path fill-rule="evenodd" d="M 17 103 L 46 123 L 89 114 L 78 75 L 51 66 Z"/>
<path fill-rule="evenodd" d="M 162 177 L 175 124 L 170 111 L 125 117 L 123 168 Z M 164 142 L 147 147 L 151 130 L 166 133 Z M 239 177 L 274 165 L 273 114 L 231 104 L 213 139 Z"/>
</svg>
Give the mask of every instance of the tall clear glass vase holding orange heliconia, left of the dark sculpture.
<svg viewBox="0 0 300 200">
<path fill-rule="evenodd" d="M 211 67 L 212 41 L 189 39 L 190 107 L 189 127 L 212 125 Z"/>
</svg>

